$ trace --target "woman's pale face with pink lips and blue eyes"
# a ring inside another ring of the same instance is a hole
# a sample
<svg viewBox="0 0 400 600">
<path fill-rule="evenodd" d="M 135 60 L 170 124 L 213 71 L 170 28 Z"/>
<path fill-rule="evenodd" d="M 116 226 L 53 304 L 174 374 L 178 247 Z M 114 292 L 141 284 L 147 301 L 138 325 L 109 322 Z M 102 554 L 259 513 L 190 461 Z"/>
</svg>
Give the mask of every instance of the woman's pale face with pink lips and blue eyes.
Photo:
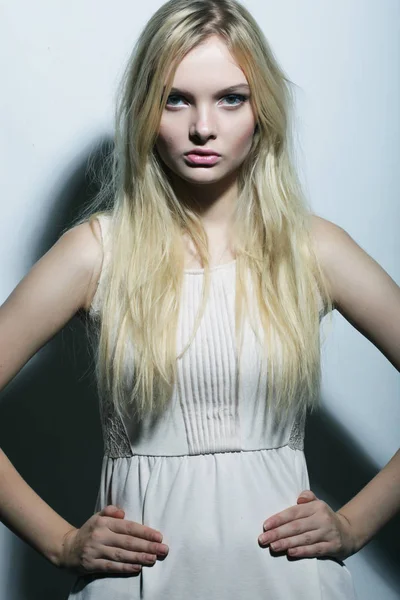
<svg viewBox="0 0 400 600">
<path fill-rule="evenodd" d="M 191 50 L 176 70 L 163 110 L 156 141 L 163 162 L 190 183 L 213 183 L 234 173 L 256 125 L 249 97 L 247 79 L 220 38 Z M 218 156 L 200 162 L 198 155 L 188 155 L 201 150 Z"/>
</svg>

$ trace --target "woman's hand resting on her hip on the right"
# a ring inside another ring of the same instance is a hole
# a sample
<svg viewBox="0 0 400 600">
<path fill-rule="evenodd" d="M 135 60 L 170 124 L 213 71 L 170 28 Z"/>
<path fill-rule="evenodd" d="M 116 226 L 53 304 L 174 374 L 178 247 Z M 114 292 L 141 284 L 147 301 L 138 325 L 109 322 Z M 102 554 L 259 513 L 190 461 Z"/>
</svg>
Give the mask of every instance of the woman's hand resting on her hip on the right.
<svg viewBox="0 0 400 600">
<path fill-rule="evenodd" d="M 291 506 L 264 522 L 258 538 L 274 552 L 287 551 L 295 558 L 331 556 L 344 560 L 357 552 L 354 532 L 349 521 L 319 500 L 311 490 L 304 490 Z"/>
</svg>

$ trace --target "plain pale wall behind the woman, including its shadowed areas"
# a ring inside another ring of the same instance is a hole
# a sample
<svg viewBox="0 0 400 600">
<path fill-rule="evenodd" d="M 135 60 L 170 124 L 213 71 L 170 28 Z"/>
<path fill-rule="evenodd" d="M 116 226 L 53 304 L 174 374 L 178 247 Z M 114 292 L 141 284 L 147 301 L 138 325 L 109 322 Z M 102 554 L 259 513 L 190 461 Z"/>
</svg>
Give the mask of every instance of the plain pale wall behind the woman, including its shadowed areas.
<svg viewBox="0 0 400 600">
<path fill-rule="evenodd" d="M 0 302 L 90 198 L 88 159 L 112 139 L 116 85 L 161 4 L 0 2 Z M 244 4 L 297 86 L 299 168 L 314 212 L 346 229 L 399 283 L 398 0 Z M 0 402 L 2 447 L 77 526 L 92 513 L 102 456 L 88 369 L 73 319 Z M 396 452 L 399 392 L 393 366 L 335 313 L 323 350 L 323 409 L 306 438 L 311 487 L 333 508 Z M 399 533 L 396 518 L 346 561 L 360 599 L 400 598 Z M 70 583 L 0 526 L 1 600 L 64 598 Z"/>
</svg>

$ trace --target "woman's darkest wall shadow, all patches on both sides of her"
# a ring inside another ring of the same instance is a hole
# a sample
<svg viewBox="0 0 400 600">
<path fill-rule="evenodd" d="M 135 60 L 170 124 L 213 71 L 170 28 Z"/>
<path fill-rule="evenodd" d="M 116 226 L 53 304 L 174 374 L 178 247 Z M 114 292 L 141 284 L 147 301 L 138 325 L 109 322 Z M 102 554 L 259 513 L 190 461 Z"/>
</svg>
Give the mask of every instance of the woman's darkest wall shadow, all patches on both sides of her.
<svg viewBox="0 0 400 600">
<path fill-rule="evenodd" d="M 104 140 L 99 156 L 109 147 L 110 140 Z M 37 259 L 93 195 L 85 172 L 86 163 L 55 202 Z M 1 447 L 33 489 L 78 527 L 93 514 L 102 460 L 91 373 L 84 326 L 75 317 L 7 386 L 0 403 Z M 311 489 L 318 488 L 320 497 L 326 495 L 336 507 L 377 472 L 354 441 L 322 412 L 308 418 L 305 452 Z M 394 558 L 400 554 L 399 539 L 400 519 L 395 518 L 368 545 L 377 562 L 385 564 L 395 589 L 400 589 L 399 564 Z M 18 600 L 66 598 L 74 576 L 54 568 L 28 545 L 23 547 L 23 555 L 16 556 L 18 591 L 10 596 Z"/>
</svg>

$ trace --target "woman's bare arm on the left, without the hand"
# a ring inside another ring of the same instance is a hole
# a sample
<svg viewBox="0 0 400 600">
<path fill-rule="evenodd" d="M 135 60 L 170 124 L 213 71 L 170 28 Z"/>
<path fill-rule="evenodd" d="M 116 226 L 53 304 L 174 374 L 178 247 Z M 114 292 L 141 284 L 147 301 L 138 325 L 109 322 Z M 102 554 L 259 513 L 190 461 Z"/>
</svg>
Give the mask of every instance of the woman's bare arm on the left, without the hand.
<svg viewBox="0 0 400 600">
<path fill-rule="evenodd" d="M 17 285 L 0 307 L 0 390 L 77 311 L 89 308 L 101 262 L 101 245 L 83 223 L 62 235 Z M 73 529 L 1 450 L 0 519 L 54 564 Z"/>
</svg>

